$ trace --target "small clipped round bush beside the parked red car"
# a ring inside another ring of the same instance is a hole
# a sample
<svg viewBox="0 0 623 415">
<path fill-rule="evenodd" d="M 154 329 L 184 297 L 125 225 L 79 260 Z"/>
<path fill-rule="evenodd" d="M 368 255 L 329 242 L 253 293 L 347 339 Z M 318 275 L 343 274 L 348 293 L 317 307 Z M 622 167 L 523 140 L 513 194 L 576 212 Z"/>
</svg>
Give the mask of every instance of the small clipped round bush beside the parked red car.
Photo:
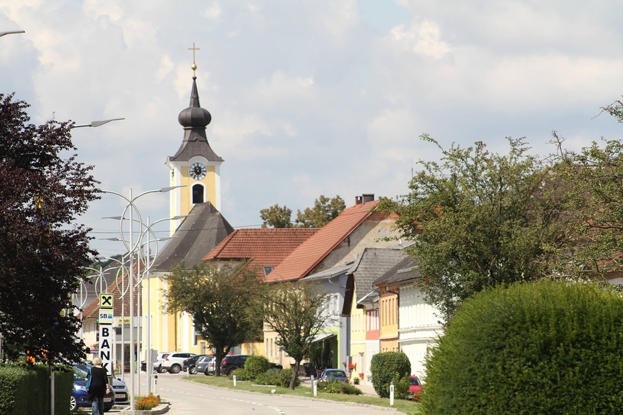
<svg viewBox="0 0 623 415">
<path fill-rule="evenodd" d="M 394 396 L 399 398 L 406 396 L 406 390 L 401 394 L 396 393 L 396 383 L 406 376 L 408 384 L 408 377 L 411 374 L 411 363 L 404 352 L 386 351 L 375 354 L 370 362 L 370 373 L 374 391 L 381 398 L 389 398 L 392 381 L 394 382 Z"/>
</svg>

